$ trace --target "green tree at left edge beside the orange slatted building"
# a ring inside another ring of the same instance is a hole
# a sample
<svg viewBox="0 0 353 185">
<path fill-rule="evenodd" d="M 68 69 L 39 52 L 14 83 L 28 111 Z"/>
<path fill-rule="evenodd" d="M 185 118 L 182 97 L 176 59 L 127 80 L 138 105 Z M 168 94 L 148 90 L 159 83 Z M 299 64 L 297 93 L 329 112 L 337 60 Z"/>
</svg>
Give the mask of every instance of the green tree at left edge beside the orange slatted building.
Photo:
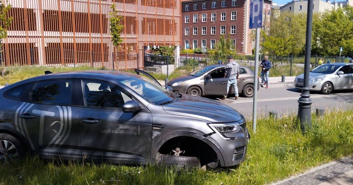
<svg viewBox="0 0 353 185">
<path fill-rule="evenodd" d="M 11 5 L 2 3 L 0 1 L 0 66 L 3 66 L 2 62 L 2 40 L 7 37 L 7 29 L 11 24 L 12 17 L 8 17 L 8 11 L 10 10 Z M 2 69 L 1 69 L 2 70 Z"/>
</svg>

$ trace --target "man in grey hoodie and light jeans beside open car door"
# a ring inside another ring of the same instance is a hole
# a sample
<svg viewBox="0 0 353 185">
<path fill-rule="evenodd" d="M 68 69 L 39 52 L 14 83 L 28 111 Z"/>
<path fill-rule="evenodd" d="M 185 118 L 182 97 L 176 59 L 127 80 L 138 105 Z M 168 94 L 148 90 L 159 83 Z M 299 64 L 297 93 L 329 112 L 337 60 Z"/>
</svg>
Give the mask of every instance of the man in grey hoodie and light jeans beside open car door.
<svg viewBox="0 0 353 185">
<path fill-rule="evenodd" d="M 238 100 L 239 94 L 238 94 L 237 80 L 239 79 L 240 69 L 239 69 L 239 64 L 234 61 L 232 55 L 228 56 L 227 68 L 230 68 L 230 69 L 229 69 L 229 71 L 226 70 L 223 78 L 226 78 L 228 72 L 230 74 L 229 74 L 229 78 L 228 78 L 228 82 L 227 82 L 227 93 L 226 93 L 226 95 L 223 96 L 222 100 L 227 99 L 229 86 L 231 86 L 231 85 L 234 86 L 235 99 Z"/>
</svg>

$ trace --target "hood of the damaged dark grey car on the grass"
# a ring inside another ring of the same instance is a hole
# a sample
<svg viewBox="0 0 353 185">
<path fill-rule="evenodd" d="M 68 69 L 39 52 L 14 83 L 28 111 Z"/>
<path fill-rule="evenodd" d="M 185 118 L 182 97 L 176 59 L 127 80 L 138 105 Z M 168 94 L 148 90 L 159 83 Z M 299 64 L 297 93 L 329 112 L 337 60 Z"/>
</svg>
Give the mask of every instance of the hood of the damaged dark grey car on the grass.
<svg viewBox="0 0 353 185">
<path fill-rule="evenodd" d="M 170 115 L 195 117 L 210 122 L 235 122 L 241 119 L 240 113 L 215 100 L 183 94 L 174 103 L 163 105 Z"/>
</svg>

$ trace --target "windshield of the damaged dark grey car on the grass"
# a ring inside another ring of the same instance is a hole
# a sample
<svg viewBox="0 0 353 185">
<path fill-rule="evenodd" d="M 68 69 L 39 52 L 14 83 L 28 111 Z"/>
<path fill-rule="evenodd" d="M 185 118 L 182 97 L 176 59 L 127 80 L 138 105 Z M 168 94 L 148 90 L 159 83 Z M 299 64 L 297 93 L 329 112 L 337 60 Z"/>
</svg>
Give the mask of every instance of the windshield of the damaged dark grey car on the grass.
<svg viewBox="0 0 353 185">
<path fill-rule="evenodd" d="M 128 78 L 119 79 L 119 82 L 155 105 L 171 103 L 178 96 L 176 93 L 166 90 L 143 76 L 130 76 Z"/>
</svg>

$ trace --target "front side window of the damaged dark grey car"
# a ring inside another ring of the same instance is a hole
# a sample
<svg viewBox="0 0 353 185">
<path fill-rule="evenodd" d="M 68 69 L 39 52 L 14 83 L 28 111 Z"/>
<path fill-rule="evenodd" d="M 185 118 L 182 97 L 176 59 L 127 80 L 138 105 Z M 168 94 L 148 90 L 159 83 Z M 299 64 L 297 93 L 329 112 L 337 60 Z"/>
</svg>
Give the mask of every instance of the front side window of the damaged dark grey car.
<svg viewBox="0 0 353 185">
<path fill-rule="evenodd" d="M 82 86 L 85 106 L 122 108 L 127 101 L 132 100 L 121 88 L 107 82 L 83 80 Z"/>
</svg>

